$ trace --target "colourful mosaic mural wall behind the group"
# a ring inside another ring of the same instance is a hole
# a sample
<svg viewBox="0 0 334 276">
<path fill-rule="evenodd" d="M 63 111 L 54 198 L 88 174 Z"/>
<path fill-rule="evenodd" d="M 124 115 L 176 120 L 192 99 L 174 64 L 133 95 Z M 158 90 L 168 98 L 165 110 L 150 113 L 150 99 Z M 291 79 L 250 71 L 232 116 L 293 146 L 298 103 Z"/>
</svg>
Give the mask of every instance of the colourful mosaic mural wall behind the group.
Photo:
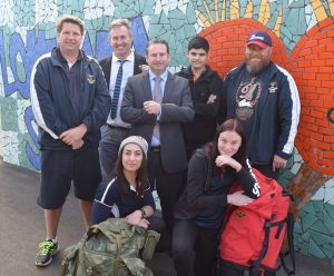
<svg viewBox="0 0 334 276">
<path fill-rule="evenodd" d="M 2 0 L 0 3 L 0 124 L 3 160 L 40 169 L 38 129 L 30 107 L 30 72 L 56 45 L 56 18 L 85 20 L 82 48 L 101 58 L 111 51 L 108 24 L 132 23 L 134 48 L 148 39 L 169 42 L 170 70 L 196 34 L 210 41 L 210 66 L 224 77 L 243 60 L 255 29 L 274 41 L 273 59 L 294 76 L 302 102 L 296 148 L 279 181 L 295 196 L 295 246 L 334 264 L 334 1 L 333 0 Z"/>
</svg>

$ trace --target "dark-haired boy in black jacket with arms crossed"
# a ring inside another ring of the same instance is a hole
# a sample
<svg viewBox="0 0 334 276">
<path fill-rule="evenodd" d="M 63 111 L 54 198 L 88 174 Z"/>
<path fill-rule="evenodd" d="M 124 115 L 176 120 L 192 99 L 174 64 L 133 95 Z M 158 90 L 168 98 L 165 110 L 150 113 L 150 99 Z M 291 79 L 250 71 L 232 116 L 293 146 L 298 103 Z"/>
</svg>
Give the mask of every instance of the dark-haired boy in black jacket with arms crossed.
<svg viewBox="0 0 334 276">
<path fill-rule="evenodd" d="M 193 38 L 187 52 L 190 66 L 176 73 L 189 81 L 195 107 L 193 121 L 183 125 L 188 160 L 193 151 L 212 141 L 216 132 L 223 80 L 206 63 L 208 56 L 208 41 L 203 37 Z"/>
</svg>

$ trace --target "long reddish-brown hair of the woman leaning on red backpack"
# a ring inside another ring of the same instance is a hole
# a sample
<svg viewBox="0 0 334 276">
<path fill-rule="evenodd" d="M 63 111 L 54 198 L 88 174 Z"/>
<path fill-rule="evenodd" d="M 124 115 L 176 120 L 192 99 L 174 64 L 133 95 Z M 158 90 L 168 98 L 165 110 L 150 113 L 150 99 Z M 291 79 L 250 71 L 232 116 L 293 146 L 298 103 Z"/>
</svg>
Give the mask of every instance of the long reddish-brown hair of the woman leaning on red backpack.
<svg viewBox="0 0 334 276">
<path fill-rule="evenodd" d="M 224 121 L 218 128 L 215 136 L 215 139 L 212 142 L 204 145 L 204 151 L 206 157 L 210 160 L 212 165 L 215 166 L 215 160 L 219 154 L 218 151 L 218 139 L 222 132 L 224 131 L 234 131 L 242 137 L 242 145 L 238 151 L 233 156 L 233 158 L 238 161 L 243 167 L 246 167 L 247 161 L 247 138 L 244 130 L 244 127 L 240 121 L 237 119 L 228 119 Z M 222 172 L 222 168 L 217 168 L 218 172 Z"/>
</svg>

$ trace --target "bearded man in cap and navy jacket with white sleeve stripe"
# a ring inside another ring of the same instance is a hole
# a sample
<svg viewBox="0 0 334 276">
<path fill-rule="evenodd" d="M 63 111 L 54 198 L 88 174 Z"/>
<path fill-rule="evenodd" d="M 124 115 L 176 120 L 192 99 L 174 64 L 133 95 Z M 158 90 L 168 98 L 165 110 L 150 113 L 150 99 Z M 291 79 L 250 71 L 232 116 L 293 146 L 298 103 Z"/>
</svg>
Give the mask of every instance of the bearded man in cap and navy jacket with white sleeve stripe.
<svg viewBox="0 0 334 276">
<path fill-rule="evenodd" d="M 271 60 L 272 49 L 267 32 L 248 36 L 244 62 L 223 82 L 220 118 L 240 120 L 250 165 L 277 179 L 294 148 L 301 102 L 293 77 Z"/>
</svg>

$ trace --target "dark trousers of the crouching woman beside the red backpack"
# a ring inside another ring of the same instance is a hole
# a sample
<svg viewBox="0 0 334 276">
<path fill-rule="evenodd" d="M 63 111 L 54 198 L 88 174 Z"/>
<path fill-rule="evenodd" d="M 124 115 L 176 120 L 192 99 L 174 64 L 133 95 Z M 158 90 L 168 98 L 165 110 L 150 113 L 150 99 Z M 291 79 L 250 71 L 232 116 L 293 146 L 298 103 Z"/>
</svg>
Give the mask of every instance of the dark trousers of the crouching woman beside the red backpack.
<svg viewBox="0 0 334 276">
<path fill-rule="evenodd" d="M 213 275 L 217 259 L 217 234 L 218 229 L 198 227 L 193 219 L 176 220 L 171 255 L 178 276 Z"/>
</svg>

